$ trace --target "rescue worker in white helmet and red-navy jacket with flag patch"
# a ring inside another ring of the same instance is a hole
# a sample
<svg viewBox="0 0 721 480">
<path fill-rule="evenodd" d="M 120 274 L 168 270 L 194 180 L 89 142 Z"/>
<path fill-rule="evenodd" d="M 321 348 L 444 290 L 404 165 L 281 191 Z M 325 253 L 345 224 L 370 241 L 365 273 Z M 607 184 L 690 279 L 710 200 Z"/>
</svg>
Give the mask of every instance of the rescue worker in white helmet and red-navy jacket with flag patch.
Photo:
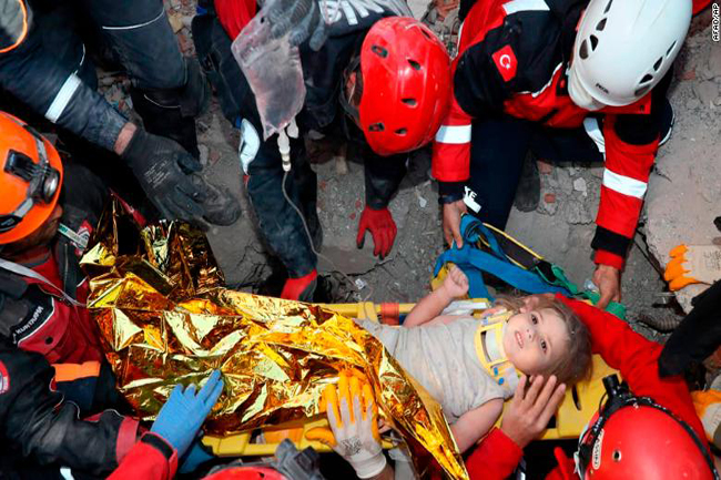
<svg viewBox="0 0 721 480">
<path fill-rule="evenodd" d="M 691 3 L 475 2 L 433 153 L 448 244 L 463 244 L 465 212 L 505 227 L 529 151 L 551 161 L 605 161 L 592 280 L 600 307 L 618 302 L 649 174 L 670 134 L 666 92 Z"/>
</svg>

